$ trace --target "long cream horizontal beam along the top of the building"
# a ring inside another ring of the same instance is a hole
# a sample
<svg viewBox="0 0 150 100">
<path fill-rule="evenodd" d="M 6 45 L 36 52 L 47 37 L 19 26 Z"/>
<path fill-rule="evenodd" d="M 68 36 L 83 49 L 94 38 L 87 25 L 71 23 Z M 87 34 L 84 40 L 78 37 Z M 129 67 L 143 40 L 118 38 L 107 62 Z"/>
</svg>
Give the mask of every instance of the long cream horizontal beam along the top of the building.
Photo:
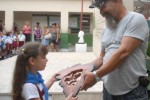
<svg viewBox="0 0 150 100">
<path fill-rule="evenodd" d="M 80 0 L 0 0 L 0 9 L 9 11 L 81 11 Z M 84 11 L 92 12 L 88 8 L 90 0 L 84 0 Z M 7 7 L 10 5 L 9 7 Z"/>
</svg>

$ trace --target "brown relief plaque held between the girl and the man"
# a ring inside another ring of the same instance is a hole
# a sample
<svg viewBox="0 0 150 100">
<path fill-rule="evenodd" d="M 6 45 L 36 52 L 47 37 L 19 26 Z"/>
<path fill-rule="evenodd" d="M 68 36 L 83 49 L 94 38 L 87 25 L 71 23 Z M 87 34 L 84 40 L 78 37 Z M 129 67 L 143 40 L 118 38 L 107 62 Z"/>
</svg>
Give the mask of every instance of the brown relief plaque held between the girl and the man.
<svg viewBox="0 0 150 100">
<path fill-rule="evenodd" d="M 63 88 L 64 95 L 68 97 L 70 93 L 73 93 L 73 96 L 76 96 L 84 82 L 82 73 L 84 71 L 93 71 L 93 65 L 89 64 L 76 64 L 72 67 L 58 72 L 60 75 L 57 76 L 57 79 L 60 80 L 59 85 Z"/>
</svg>

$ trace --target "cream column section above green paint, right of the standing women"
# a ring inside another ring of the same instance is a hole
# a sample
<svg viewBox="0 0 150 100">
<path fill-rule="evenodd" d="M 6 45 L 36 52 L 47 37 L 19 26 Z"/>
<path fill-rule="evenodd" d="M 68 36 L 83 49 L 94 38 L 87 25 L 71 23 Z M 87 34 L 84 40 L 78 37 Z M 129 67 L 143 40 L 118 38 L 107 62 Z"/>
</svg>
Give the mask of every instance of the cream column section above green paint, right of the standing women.
<svg viewBox="0 0 150 100">
<path fill-rule="evenodd" d="M 68 25 L 69 25 L 69 14 L 67 11 L 61 12 L 61 32 L 68 33 Z"/>
</svg>

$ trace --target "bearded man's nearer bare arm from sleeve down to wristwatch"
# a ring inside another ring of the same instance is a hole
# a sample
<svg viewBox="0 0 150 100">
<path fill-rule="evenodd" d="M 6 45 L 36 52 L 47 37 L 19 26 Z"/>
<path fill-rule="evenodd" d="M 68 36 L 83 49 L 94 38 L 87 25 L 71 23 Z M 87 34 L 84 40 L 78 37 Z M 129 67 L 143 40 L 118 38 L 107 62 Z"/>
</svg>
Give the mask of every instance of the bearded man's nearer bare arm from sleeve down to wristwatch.
<svg viewBox="0 0 150 100">
<path fill-rule="evenodd" d="M 127 58 L 140 44 L 142 40 L 132 38 L 132 37 L 123 37 L 121 41 L 121 46 L 118 50 L 116 50 L 108 62 L 102 65 L 96 73 L 99 77 L 103 77 L 113 70 L 117 69 L 119 64 L 123 62 L 125 58 Z"/>
</svg>

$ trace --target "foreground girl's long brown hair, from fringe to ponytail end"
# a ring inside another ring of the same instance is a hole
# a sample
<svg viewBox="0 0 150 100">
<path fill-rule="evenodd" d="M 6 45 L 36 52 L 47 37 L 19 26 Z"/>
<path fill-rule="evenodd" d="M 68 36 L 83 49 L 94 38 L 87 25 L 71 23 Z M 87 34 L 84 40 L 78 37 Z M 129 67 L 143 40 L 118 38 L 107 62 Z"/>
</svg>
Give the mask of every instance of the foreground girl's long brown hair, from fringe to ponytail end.
<svg viewBox="0 0 150 100">
<path fill-rule="evenodd" d="M 37 42 L 28 42 L 20 49 L 17 57 L 13 82 L 12 82 L 12 98 L 13 100 L 23 100 L 22 88 L 25 83 L 28 67 L 31 66 L 28 62 L 30 57 L 36 58 L 37 56 L 45 56 L 48 53 L 46 46 Z"/>
</svg>

